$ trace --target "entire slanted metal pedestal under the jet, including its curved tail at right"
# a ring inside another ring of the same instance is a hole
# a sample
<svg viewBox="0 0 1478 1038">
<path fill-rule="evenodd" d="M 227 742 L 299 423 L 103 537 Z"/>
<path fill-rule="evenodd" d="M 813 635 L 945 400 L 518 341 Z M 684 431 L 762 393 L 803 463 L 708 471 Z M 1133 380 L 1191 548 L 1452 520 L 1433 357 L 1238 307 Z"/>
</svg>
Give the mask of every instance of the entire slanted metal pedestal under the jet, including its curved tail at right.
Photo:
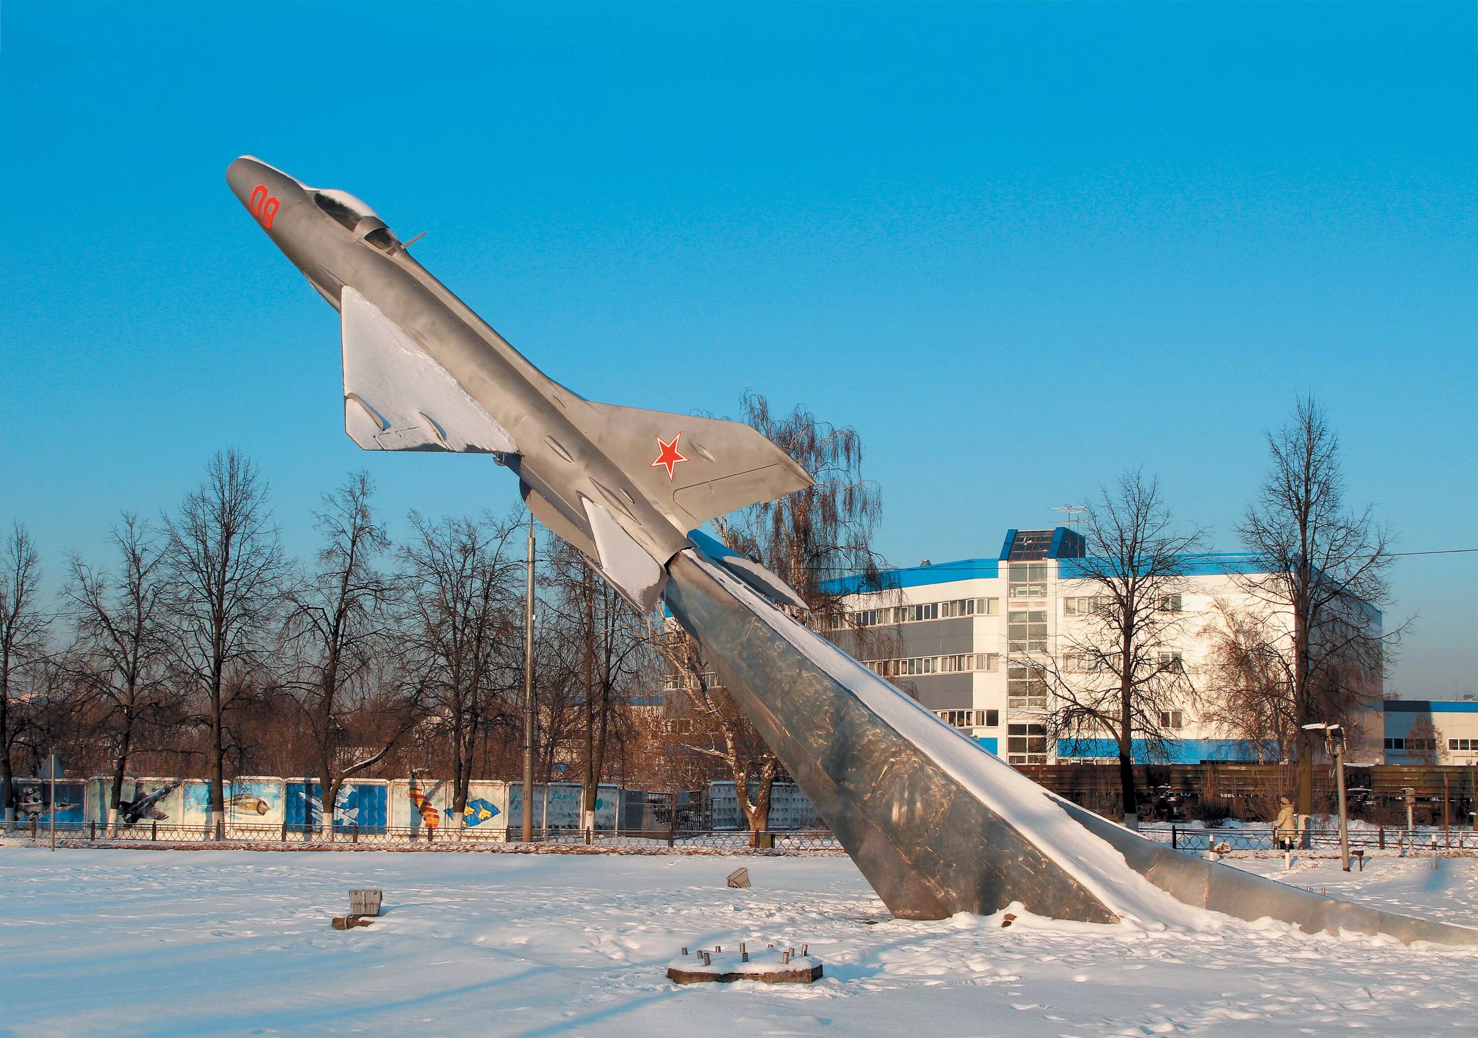
<svg viewBox="0 0 1478 1038">
<path fill-rule="evenodd" d="M 992 810 L 922 751 L 918 741 L 869 708 L 856 689 L 869 688 L 876 695 L 868 683 L 879 679 L 862 664 L 752 593 L 726 584 L 696 553 L 675 556 L 668 575 L 665 597 L 672 617 L 699 640 L 729 693 L 894 915 L 986 915 L 1021 902 L 1027 911 L 1049 918 L 1119 921 L 1051 849 L 1033 843 L 1011 818 Z M 807 651 L 813 645 L 814 651 Z M 983 782 L 1005 778 L 999 775 L 1002 764 L 992 763 L 996 770 L 989 775 L 981 764 Z M 1029 779 L 1011 772 L 1009 781 Z M 1045 790 L 1041 796 L 1117 850 L 1123 869 L 1138 872 L 1182 903 L 1243 920 L 1283 920 L 1311 933 L 1344 930 L 1389 934 L 1409 943 L 1478 943 L 1478 929 L 1298 890 L 1171 850 Z M 1117 868 L 1113 862 L 1110 868 Z M 1076 865 L 1088 868 L 1082 861 Z M 1111 886 L 1123 877 L 1101 878 Z"/>
</svg>

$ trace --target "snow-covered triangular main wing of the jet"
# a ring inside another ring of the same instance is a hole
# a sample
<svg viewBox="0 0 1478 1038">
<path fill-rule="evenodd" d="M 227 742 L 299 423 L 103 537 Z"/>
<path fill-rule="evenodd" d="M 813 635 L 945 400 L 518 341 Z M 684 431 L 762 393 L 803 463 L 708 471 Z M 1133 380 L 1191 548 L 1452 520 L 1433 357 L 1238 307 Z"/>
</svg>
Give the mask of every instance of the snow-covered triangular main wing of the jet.
<svg viewBox="0 0 1478 1038">
<path fill-rule="evenodd" d="M 513 436 L 378 306 L 346 285 L 340 313 L 344 432 L 359 447 L 517 452 Z"/>
</svg>

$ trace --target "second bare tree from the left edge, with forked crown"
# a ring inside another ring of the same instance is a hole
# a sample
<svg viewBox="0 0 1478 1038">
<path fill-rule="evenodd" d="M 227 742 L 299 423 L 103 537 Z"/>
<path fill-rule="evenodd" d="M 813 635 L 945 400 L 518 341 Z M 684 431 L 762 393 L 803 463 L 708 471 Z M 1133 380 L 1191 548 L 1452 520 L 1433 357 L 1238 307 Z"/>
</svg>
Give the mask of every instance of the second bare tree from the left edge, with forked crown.
<svg viewBox="0 0 1478 1038">
<path fill-rule="evenodd" d="M 167 693 L 168 597 L 164 543 L 146 520 L 124 513 L 108 540 L 118 553 L 118 572 L 95 569 L 74 553 L 64 594 L 75 614 L 81 674 L 103 704 L 101 720 L 114 736 L 108 809 L 117 812 L 139 725 L 158 720 Z"/>
</svg>

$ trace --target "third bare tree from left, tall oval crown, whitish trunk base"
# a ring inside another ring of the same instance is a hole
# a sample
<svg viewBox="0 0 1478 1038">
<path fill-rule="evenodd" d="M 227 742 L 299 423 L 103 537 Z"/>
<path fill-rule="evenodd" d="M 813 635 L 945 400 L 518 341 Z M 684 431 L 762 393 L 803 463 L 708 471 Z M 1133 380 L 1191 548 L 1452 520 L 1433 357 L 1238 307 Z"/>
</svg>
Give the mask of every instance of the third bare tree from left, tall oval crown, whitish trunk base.
<svg viewBox="0 0 1478 1038">
<path fill-rule="evenodd" d="M 210 729 L 207 831 L 225 827 L 225 716 L 251 688 L 239 673 L 262 659 L 281 603 L 282 547 L 266 486 L 235 450 L 217 452 L 205 479 L 166 519 L 176 657 L 205 699 Z"/>
</svg>

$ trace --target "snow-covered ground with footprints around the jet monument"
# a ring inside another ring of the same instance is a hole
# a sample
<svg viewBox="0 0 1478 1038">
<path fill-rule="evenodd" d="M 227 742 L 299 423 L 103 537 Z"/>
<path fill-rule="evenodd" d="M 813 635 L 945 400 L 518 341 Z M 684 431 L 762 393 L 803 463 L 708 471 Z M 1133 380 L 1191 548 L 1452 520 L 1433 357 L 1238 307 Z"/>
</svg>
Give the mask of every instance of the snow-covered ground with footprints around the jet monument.
<svg viewBox="0 0 1478 1038">
<path fill-rule="evenodd" d="M 1231 864 L 1283 875 L 1283 858 Z M 754 886 L 730 890 L 727 872 Z M 1289 881 L 1478 923 L 1478 864 Z M 337 932 L 350 887 L 386 915 Z M 806 942 L 813 986 L 677 988 L 681 945 Z M 845 858 L 0 847 L 0 1034 L 1307 1035 L 1478 1028 L 1478 951 L 1216 920 L 906 923 Z"/>
</svg>

